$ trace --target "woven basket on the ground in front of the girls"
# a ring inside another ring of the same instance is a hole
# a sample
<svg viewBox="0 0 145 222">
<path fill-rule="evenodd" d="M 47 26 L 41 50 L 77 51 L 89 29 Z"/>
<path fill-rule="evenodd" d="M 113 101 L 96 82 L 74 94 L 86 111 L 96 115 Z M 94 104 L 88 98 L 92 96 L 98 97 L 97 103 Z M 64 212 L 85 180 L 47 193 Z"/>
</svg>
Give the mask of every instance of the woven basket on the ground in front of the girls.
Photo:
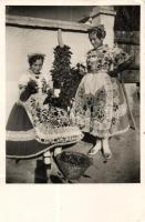
<svg viewBox="0 0 145 222">
<path fill-rule="evenodd" d="M 83 153 L 64 151 L 56 155 L 56 164 L 66 179 L 79 179 L 91 165 L 91 161 Z"/>
</svg>

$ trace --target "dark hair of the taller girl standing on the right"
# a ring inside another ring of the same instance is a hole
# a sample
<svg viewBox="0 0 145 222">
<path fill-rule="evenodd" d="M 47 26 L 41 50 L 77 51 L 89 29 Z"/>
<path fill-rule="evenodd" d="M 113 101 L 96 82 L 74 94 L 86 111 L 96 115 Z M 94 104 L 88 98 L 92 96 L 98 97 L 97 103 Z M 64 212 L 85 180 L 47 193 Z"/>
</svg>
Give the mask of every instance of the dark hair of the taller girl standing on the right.
<svg viewBox="0 0 145 222">
<path fill-rule="evenodd" d="M 105 36 L 106 36 L 106 31 L 105 31 L 104 24 L 100 24 L 97 27 L 90 28 L 89 29 L 89 36 L 92 34 L 92 33 L 96 34 L 96 37 L 99 39 L 104 39 Z"/>
</svg>

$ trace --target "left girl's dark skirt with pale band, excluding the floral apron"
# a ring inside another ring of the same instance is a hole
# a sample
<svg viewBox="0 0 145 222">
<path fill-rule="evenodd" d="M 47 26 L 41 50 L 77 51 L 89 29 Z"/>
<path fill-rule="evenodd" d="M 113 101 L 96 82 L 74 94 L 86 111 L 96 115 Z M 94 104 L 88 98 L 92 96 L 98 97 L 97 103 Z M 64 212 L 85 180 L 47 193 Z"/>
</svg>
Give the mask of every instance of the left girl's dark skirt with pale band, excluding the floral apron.
<svg viewBox="0 0 145 222">
<path fill-rule="evenodd" d="M 54 144 L 38 141 L 35 130 L 25 109 L 21 104 L 15 103 L 7 123 L 6 154 L 7 158 L 15 159 L 33 158 L 54 147 L 75 143 L 79 140 L 80 137 L 73 141 L 68 140 L 65 143 L 56 141 Z"/>
</svg>

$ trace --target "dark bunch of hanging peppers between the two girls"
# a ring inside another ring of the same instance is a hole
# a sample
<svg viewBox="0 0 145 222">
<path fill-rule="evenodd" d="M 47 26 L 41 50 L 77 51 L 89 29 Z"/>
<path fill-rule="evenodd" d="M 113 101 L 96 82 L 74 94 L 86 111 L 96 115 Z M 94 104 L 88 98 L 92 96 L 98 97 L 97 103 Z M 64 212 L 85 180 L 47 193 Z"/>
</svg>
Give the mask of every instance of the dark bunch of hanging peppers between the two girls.
<svg viewBox="0 0 145 222">
<path fill-rule="evenodd" d="M 61 89 L 60 101 L 64 109 L 71 105 L 71 100 L 82 79 L 77 69 L 71 68 L 71 54 L 70 47 L 58 46 L 54 49 L 53 69 L 51 70 L 53 87 Z"/>
</svg>

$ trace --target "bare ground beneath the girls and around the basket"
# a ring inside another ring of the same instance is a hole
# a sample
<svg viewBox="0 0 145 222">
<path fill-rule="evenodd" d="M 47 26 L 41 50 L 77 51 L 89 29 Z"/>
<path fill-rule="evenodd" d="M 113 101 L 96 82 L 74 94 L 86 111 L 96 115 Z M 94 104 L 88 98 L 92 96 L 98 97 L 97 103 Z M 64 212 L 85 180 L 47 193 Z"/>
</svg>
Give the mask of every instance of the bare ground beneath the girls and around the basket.
<svg viewBox="0 0 145 222">
<path fill-rule="evenodd" d="M 86 140 L 65 148 L 65 150 L 87 153 L 93 145 Z M 125 134 L 110 141 L 113 158 L 106 161 L 100 151 L 93 157 L 93 164 L 77 181 L 70 183 L 136 183 L 139 182 L 139 134 L 130 129 Z M 31 160 L 7 160 L 8 183 L 66 183 L 56 164 L 52 161 L 50 178 L 42 158 Z"/>
</svg>

